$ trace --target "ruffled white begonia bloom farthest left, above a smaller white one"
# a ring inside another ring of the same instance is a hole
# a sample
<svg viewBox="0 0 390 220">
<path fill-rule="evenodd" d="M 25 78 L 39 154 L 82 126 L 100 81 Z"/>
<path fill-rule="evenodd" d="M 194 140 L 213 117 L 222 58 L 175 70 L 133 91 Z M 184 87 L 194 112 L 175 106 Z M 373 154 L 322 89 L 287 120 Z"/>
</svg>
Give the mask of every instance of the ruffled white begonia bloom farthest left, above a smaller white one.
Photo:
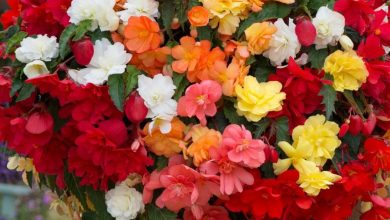
<svg viewBox="0 0 390 220">
<path fill-rule="evenodd" d="M 36 38 L 27 37 L 22 40 L 20 47 L 15 50 L 16 59 L 22 63 L 34 60 L 51 61 L 59 54 L 57 38 L 38 35 Z"/>
</svg>

